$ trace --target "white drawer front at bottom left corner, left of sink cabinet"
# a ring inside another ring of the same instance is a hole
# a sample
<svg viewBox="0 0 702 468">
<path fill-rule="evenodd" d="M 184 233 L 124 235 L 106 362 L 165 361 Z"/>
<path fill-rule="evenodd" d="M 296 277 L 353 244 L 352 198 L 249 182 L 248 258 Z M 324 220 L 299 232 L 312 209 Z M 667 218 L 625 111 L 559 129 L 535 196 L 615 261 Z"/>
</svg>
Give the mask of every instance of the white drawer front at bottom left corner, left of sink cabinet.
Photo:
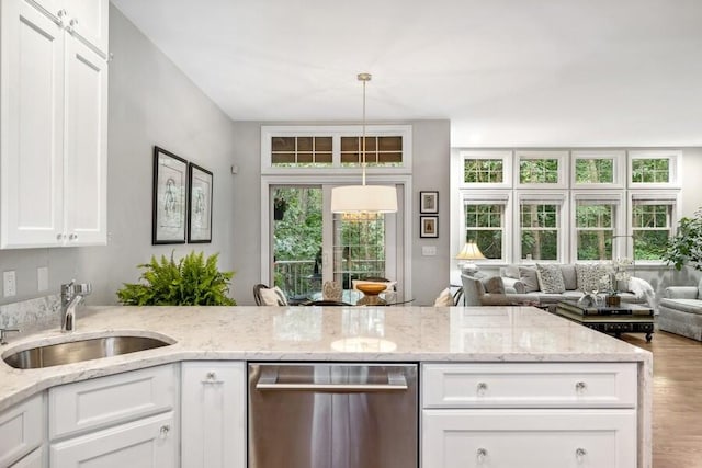
<svg viewBox="0 0 702 468">
<path fill-rule="evenodd" d="M 0 467 L 7 467 L 42 445 L 44 393 L 0 413 Z"/>
</svg>

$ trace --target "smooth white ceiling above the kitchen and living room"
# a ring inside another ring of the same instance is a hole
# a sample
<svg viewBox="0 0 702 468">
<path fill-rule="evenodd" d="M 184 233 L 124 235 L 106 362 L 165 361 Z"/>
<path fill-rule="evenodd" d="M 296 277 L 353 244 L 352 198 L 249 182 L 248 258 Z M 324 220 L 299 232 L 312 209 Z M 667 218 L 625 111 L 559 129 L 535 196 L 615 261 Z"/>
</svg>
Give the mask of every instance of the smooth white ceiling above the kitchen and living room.
<svg viewBox="0 0 702 468">
<path fill-rule="evenodd" d="M 112 0 L 236 121 L 453 146 L 702 146 L 702 0 Z"/>
</svg>

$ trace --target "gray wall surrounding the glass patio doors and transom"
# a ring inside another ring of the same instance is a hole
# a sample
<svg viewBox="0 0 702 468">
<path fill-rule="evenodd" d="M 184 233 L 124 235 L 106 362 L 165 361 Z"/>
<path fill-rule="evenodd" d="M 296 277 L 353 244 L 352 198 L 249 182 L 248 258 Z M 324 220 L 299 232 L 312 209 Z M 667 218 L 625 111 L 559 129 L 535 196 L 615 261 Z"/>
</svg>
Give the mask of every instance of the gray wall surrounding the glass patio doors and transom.
<svg viewBox="0 0 702 468">
<path fill-rule="evenodd" d="M 251 289 L 261 281 L 261 125 L 324 125 L 329 122 L 237 122 L 235 124 L 236 221 L 237 239 L 234 295 L 240 305 L 252 305 Z M 333 123 L 339 124 L 339 123 Z M 381 124 L 373 122 L 372 124 Z M 385 123 L 390 124 L 390 123 Z M 393 122 L 412 125 L 412 296 L 414 305 L 431 305 L 449 284 L 449 161 L 451 128 L 449 121 Z M 419 192 L 439 191 L 439 238 L 419 239 Z M 435 256 L 422 256 L 422 246 L 434 246 Z"/>
</svg>

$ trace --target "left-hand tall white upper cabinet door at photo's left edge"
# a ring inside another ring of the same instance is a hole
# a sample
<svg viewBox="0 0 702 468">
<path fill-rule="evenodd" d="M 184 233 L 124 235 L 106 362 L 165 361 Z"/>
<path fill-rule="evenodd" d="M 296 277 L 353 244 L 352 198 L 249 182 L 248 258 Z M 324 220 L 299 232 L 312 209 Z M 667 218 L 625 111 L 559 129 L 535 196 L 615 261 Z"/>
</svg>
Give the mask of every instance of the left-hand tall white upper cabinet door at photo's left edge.
<svg viewBox="0 0 702 468">
<path fill-rule="evenodd" d="M 0 248 L 58 246 L 65 35 L 22 0 L 1 8 Z"/>
</svg>

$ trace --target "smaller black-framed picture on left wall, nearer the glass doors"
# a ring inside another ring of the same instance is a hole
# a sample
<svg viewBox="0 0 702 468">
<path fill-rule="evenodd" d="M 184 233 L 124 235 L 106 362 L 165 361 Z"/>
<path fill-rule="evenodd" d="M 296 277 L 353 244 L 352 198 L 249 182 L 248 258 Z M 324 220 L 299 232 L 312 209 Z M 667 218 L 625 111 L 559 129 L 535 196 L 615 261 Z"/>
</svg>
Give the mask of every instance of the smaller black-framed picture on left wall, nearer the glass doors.
<svg viewBox="0 0 702 468">
<path fill-rule="evenodd" d="M 212 172 L 190 163 L 188 242 L 212 242 Z"/>
</svg>

